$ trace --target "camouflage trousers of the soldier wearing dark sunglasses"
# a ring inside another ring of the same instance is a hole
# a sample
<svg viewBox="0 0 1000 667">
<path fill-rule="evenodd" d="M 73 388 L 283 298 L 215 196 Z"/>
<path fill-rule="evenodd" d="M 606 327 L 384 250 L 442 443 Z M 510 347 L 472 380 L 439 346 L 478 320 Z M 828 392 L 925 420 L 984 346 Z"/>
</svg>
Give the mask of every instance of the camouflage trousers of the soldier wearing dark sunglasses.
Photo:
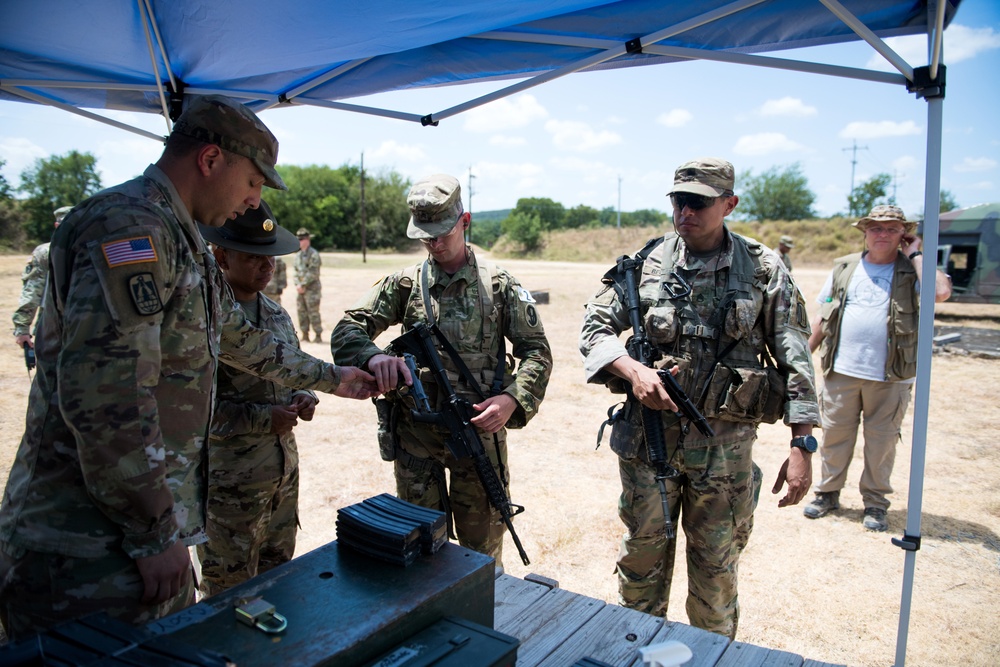
<svg viewBox="0 0 1000 667">
<path fill-rule="evenodd" d="M 736 571 L 753 529 L 761 472 L 753 440 L 678 449 L 670 464 L 681 476 L 667 482 L 671 520 L 687 540 L 688 622 L 734 638 L 739 623 Z M 640 459 L 619 459 L 625 524 L 618 556 L 622 606 L 667 616 L 676 540 L 668 540 L 655 470 Z"/>
</svg>

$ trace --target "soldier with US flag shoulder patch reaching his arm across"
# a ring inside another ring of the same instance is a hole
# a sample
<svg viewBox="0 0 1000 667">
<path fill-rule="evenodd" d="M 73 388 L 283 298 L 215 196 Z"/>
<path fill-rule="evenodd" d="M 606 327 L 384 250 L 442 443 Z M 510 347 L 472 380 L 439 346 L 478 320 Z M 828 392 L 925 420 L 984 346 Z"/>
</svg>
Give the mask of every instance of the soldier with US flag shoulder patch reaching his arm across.
<svg viewBox="0 0 1000 667">
<path fill-rule="evenodd" d="M 246 107 L 191 100 L 144 174 L 74 208 L 51 245 L 38 373 L 0 507 L 7 636 L 89 613 L 144 623 L 193 601 L 218 362 L 353 398 L 374 379 L 257 329 L 195 220 L 220 226 L 284 187 Z"/>
</svg>

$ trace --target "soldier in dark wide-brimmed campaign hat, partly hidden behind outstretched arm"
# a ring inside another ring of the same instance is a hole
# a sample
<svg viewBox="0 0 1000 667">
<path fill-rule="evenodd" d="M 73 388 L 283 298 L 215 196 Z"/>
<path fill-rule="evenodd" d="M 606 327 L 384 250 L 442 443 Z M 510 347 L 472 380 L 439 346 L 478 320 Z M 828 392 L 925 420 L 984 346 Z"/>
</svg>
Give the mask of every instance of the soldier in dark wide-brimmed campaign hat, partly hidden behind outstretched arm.
<svg viewBox="0 0 1000 667">
<path fill-rule="evenodd" d="M 254 326 L 298 347 L 284 308 L 261 294 L 274 256 L 298 247 L 261 200 L 222 227 L 204 227 L 236 302 Z M 313 418 L 316 394 L 231 366 L 216 380 L 208 449 L 208 541 L 198 545 L 201 592 L 215 595 L 287 563 L 298 528 L 299 452 L 292 429 Z"/>
</svg>

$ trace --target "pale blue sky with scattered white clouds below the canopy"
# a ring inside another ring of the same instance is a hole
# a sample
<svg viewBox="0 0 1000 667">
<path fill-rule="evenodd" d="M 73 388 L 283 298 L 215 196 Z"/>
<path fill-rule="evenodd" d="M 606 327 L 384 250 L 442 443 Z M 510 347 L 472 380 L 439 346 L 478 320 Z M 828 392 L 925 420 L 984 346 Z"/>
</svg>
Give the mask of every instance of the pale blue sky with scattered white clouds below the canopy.
<svg viewBox="0 0 1000 667">
<path fill-rule="evenodd" d="M 889 40 L 913 66 L 924 37 Z M 864 43 L 795 52 L 800 57 L 892 71 Z M 1000 3 L 965 0 L 945 31 L 942 188 L 969 206 L 1000 201 Z M 426 114 L 504 84 L 406 91 L 352 102 Z M 279 164 L 357 164 L 415 180 L 447 172 L 472 211 L 511 208 L 521 197 L 566 207 L 667 210 L 673 170 L 698 156 L 724 157 L 737 173 L 799 163 L 820 215 L 846 210 L 851 187 L 878 173 L 898 203 L 923 211 L 927 103 L 905 89 L 815 74 L 690 62 L 570 75 L 445 119 L 438 127 L 328 109 L 274 109 L 261 117 L 280 141 Z M 162 119 L 100 113 L 165 133 Z M 857 146 L 856 152 L 854 147 Z M 105 185 L 155 161 L 160 145 L 55 109 L 0 102 L 0 159 L 15 186 L 37 158 L 70 150 L 97 157 Z M 740 183 L 736 189 L 739 193 Z M 265 193 L 266 197 L 266 193 Z M 468 193 L 465 193 L 468 204 Z"/>
</svg>

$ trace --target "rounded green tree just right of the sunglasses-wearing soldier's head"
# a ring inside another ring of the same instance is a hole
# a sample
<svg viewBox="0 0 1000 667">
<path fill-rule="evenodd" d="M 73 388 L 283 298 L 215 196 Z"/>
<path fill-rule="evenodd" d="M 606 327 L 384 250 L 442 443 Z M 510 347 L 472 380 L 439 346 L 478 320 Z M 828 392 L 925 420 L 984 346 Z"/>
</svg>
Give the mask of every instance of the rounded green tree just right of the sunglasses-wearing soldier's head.
<svg viewBox="0 0 1000 667">
<path fill-rule="evenodd" d="M 784 168 L 771 167 L 754 176 L 751 170 L 740 175 L 740 203 L 737 217 L 744 220 L 804 220 L 815 216 L 816 195 L 808 187 L 798 162 Z"/>
</svg>

